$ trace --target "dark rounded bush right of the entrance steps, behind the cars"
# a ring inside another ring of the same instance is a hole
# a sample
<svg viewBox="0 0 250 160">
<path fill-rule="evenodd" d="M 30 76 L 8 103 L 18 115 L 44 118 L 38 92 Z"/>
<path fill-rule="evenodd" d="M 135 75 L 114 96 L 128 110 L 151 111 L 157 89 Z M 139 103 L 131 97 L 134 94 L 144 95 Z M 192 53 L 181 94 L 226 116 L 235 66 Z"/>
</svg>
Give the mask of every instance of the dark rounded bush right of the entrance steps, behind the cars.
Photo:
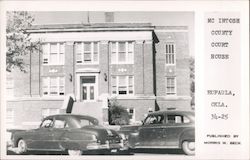
<svg viewBox="0 0 250 160">
<path fill-rule="evenodd" d="M 110 125 L 127 125 L 129 124 L 128 111 L 118 104 L 116 99 L 109 100 L 109 124 Z"/>
</svg>

